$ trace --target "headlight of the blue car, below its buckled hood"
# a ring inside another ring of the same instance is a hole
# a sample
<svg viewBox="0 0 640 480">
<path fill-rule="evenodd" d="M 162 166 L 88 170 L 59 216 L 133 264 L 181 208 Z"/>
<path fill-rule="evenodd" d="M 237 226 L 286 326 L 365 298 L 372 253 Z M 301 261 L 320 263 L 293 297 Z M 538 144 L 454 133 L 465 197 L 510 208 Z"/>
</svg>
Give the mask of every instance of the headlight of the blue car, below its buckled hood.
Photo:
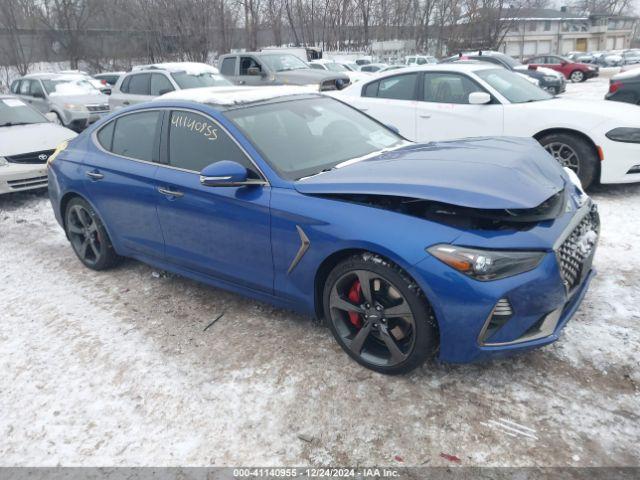
<svg viewBox="0 0 640 480">
<path fill-rule="evenodd" d="M 454 270 L 480 281 L 498 280 L 538 266 L 544 252 L 479 250 L 455 245 L 434 245 L 427 252 Z"/>
</svg>

